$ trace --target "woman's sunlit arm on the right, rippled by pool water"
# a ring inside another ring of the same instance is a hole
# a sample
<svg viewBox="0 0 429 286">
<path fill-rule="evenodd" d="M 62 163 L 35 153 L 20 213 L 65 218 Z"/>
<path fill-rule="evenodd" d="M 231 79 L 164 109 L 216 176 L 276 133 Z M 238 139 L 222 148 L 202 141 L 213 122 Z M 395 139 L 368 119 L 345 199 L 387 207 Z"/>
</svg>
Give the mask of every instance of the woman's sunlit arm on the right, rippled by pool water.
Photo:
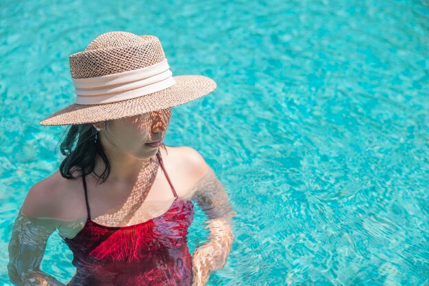
<svg viewBox="0 0 429 286">
<path fill-rule="evenodd" d="M 193 285 L 206 285 L 210 274 L 225 265 L 234 239 L 231 220 L 237 214 L 215 172 L 200 160 L 200 172 L 205 174 L 195 184 L 192 199 L 208 216 L 206 229 L 210 234 L 208 241 L 193 252 Z"/>
</svg>

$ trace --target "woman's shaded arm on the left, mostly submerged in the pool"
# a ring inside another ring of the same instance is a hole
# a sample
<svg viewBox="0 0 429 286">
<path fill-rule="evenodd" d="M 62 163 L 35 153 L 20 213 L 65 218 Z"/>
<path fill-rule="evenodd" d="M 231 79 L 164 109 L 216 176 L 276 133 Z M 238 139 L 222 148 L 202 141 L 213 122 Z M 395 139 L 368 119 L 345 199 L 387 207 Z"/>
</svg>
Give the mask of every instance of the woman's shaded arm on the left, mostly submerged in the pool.
<svg viewBox="0 0 429 286">
<path fill-rule="evenodd" d="M 47 239 L 56 230 L 49 215 L 49 190 L 41 181 L 28 192 L 21 207 L 10 238 L 8 274 L 14 285 L 64 285 L 53 276 L 40 270 Z"/>
</svg>

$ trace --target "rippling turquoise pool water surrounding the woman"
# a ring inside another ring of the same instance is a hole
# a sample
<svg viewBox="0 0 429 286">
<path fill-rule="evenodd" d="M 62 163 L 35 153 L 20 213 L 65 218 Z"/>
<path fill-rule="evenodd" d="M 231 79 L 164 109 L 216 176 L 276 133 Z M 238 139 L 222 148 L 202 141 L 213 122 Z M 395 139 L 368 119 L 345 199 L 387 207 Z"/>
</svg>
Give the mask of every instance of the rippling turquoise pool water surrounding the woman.
<svg viewBox="0 0 429 286">
<path fill-rule="evenodd" d="M 165 142 L 217 172 L 236 235 L 208 285 L 429 285 L 427 1 L 0 3 L 0 283 L 34 183 L 62 157 L 68 57 L 106 31 L 158 36 L 173 75 L 212 77 Z M 197 211 L 189 239 L 205 239 Z M 66 283 L 51 235 L 42 270 Z"/>
</svg>

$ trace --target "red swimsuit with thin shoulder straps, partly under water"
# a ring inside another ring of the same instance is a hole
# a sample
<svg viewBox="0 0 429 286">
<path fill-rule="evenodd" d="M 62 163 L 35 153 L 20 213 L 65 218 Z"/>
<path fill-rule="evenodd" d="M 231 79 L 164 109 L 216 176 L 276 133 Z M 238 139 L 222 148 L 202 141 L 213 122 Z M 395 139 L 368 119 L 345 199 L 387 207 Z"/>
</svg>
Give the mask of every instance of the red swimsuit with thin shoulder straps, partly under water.
<svg viewBox="0 0 429 286">
<path fill-rule="evenodd" d="M 167 181 L 159 151 L 156 154 Z M 188 250 L 188 226 L 194 217 L 191 200 L 175 196 L 161 216 L 131 226 L 103 226 L 88 218 L 71 239 L 62 237 L 73 252 L 77 268 L 67 285 L 191 285 L 192 262 Z"/>
</svg>

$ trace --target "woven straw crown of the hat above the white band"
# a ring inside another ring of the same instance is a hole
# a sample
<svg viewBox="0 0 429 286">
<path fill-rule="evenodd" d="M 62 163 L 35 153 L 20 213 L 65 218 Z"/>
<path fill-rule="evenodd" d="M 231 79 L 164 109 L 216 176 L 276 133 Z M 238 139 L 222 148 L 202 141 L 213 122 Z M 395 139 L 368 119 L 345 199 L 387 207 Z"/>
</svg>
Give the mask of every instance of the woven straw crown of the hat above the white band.
<svg viewBox="0 0 429 286">
<path fill-rule="evenodd" d="M 138 36 L 127 31 L 110 31 L 97 36 L 85 51 L 69 56 L 73 79 L 101 77 L 137 70 L 165 60 L 156 36 Z"/>
</svg>

